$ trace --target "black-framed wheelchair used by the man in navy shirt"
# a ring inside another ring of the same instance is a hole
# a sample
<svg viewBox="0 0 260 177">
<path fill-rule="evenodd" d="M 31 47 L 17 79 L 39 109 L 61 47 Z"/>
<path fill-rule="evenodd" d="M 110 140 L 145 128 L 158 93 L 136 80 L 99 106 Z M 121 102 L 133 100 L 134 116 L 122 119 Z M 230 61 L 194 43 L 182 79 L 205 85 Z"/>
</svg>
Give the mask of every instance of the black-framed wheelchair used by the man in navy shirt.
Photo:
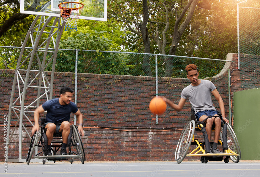
<svg viewBox="0 0 260 177">
<path fill-rule="evenodd" d="M 68 155 L 56 155 L 59 149 L 62 147 L 62 133 L 54 133 L 53 140 L 51 142 L 51 151 L 53 155 L 47 156 L 45 154 L 47 150 L 47 136 L 45 134 L 45 119 L 41 119 L 41 133 L 35 132 L 29 146 L 26 162 L 29 165 L 31 157 L 34 153 L 35 146 L 41 147 L 41 152 L 35 154 L 34 158 L 42 159 L 43 164 L 46 160 L 54 161 L 62 161 L 69 160 L 70 163 L 73 163 L 73 159 L 80 159 L 82 163 L 86 160 L 85 152 L 83 148 L 83 143 L 81 141 L 81 137 L 79 131 L 76 126 L 72 125 L 70 129 L 70 134 L 68 136 Z M 74 155 L 75 154 L 75 155 Z"/>
</svg>

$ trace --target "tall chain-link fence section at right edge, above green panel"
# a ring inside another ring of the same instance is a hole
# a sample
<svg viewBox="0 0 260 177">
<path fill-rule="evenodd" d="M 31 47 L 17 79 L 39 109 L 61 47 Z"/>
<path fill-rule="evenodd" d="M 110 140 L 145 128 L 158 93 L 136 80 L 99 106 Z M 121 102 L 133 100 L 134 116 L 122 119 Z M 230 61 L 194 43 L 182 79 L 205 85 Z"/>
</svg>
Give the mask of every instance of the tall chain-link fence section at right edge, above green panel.
<svg viewBox="0 0 260 177">
<path fill-rule="evenodd" d="M 238 10 L 238 69 L 242 90 L 260 87 L 260 1 L 242 1 Z"/>
</svg>

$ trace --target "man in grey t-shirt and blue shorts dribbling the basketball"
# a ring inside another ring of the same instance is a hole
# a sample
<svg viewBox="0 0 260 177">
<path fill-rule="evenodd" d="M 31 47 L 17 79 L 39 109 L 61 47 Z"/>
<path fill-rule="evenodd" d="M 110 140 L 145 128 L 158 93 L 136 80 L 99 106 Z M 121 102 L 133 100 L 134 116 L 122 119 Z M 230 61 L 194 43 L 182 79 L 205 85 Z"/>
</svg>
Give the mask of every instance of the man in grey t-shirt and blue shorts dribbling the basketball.
<svg viewBox="0 0 260 177">
<path fill-rule="evenodd" d="M 189 64 L 186 66 L 187 78 L 190 79 L 191 84 L 183 89 L 181 92 L 181 99 L 177 104 L 174 104 L 169 99 L 163 97 L 164 101 L 176 111 L 181 111 L 189 99 L 192 108 L 195 111 L 195 115 L 198 121 L 205 120 L 208 116 L 218 116 L 216 108 L 213 106 L 211 100 L 211 93 L 218 100 L 220 111 L 223 120 L 229 123 L 225 117 L 224 102 L 218 93 L 218 90 L 211 81 L 200 80 L 197 66 L 195 64 Z M 206 132 L 210 141 L 212 124 L 215 123 L 215 135 L 213 148 L 210 149 L 211 153 L 222 153 L 217 149 L 219 134 L 221 130 L 221 120 L 219 117 L 212 117 L 206 120 Z"/>
</svg>

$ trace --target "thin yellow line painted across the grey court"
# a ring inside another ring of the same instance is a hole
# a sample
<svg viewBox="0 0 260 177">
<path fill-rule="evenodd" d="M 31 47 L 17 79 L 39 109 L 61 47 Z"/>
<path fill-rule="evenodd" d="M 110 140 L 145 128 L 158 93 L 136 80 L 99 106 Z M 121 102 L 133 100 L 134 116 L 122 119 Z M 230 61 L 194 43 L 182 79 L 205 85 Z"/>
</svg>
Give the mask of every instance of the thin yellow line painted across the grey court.
<svg viewBox="0 0 260 177">
<path fill-rule="evenodd" d="M 156 170 L 157 172 L 181 172 L 181 171 L 194 171 L 197 169 L 193 169 L 193 170 Z M 228 171 L 228 170 L 260 170 L 260 169 L 200 169 L 200 171 Z M 152 171 L 97 171 L 97 172 L 36 172 L 36 173 L 0 173 L 0 174 L 52 174 L 52 173 L 115 173 L 115 172 L 154 172 L 154 170 Z"/>
</svg>

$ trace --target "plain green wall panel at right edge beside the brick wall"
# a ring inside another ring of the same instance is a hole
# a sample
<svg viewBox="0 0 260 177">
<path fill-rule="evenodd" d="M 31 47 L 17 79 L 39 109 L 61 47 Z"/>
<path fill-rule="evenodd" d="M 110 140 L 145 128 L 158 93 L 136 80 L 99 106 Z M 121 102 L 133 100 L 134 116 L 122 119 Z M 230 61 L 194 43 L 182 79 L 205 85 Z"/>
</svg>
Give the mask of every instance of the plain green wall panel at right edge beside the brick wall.
<svg viewBox="0 0 260 177">
<path fill-rule="evenodd" d="M 260 88 L 234 92 L 233 101 L 241 160 L 260 160 Z"/>
</svg>

